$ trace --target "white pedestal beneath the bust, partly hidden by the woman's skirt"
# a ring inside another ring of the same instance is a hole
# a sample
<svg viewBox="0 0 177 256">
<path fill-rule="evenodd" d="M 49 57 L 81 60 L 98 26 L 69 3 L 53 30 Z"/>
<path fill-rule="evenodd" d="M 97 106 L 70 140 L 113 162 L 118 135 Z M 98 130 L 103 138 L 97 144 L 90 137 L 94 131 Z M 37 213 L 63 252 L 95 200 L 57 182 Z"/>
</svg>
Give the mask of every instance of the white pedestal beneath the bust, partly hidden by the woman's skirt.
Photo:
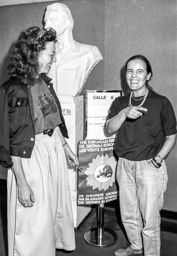
<svg viewBox="0 0 177 256">
<path fill-rule="evenodd" d="M 62 113 L 68 130 L 69 139 L 66 139 L 71 150 L 77 155 L 77 144 L 84 139 L 84 96 L 58 97 Z M 77 206 L 78 173 L 75 167 L 69 167 L 69 185 L 74 218 L 74 227 L 90 212 L 91 207 Z"/>
</svg>

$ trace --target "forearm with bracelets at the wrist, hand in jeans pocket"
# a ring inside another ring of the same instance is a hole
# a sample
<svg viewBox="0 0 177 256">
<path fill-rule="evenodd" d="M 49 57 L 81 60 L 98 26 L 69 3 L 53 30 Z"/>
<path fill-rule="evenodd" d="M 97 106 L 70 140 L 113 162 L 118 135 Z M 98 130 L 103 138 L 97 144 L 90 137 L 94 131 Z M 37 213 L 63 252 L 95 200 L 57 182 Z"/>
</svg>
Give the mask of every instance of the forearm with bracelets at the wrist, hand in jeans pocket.
<svg viewBox="0 0 177 256">
<path fill-rule="evenodd" d="M 159 151 L 159 153 L 157 155 L 160 155 L 162 158 L 166 158 L 166 156 L 168 156 L 168 154 L 172 151 L 173 147 L 175 146 L 177 140 L 177 134 L 173 134 L 170 136 L 166 136 L 166 141 L 162 147 L 162 149 Z M 161 160 L 159 158 L 159 156 L 156 156 L 155 159 L 161 163 Z M 148 163 L 151 167 L 154 168 L 154 165 L 152 162 Z"/>
</svg>

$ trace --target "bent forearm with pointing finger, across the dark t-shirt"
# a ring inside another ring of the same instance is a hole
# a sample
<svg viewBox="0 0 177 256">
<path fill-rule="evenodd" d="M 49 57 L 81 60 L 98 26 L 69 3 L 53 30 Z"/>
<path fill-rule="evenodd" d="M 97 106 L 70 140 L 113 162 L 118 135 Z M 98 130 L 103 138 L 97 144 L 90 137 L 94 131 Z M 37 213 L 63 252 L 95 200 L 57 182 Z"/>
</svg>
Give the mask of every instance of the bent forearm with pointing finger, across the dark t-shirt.
<svg viewBox="0 0 177 256">
<path fill-rule="evenodd" d="M 123 122 L 126 120 L 126 118 L 137 119 L 138 117 L 142 116 L 143 114 L 139 110 L 145 111 L 145 112 L 148 111 L 146 108 L 134 107 L 134 106 L 123 109 L 115 117 L 107 121 L 106 128 L 108 132 L 113 133 L 119 130 L 119 128 L 121 127 Z"/>
</svg>

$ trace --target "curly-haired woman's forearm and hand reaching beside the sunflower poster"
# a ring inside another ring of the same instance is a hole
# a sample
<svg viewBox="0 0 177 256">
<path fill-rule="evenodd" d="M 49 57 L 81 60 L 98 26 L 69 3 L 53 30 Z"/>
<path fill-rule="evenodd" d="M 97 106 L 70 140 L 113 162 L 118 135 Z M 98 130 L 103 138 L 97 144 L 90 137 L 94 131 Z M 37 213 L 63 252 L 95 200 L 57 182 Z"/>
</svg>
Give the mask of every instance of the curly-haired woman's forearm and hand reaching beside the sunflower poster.
<svg viewBox="0 0 177 256">
<path fill-rule="evenodd" d="M 65 152 L 65 156 L 66 156 L 66 159 L 68 160 L 68 163 L 70 165 L 74 165 L 75 164 L 79 164 L 79 160 L 78 160 L 78 157 L 72 152 L 72 150 L 70 149 L 69 145 L 67 144 L 65 138 L 63 137 L 59 127 L 57 126 L 56 128 L 56 132 L 61 140 L 61 143 L 63 146 L 63 149 L 64 149 L 64 152 Z M 74 161 L 74 163 L 70 160 L 70 158 Z"/>
</svg>

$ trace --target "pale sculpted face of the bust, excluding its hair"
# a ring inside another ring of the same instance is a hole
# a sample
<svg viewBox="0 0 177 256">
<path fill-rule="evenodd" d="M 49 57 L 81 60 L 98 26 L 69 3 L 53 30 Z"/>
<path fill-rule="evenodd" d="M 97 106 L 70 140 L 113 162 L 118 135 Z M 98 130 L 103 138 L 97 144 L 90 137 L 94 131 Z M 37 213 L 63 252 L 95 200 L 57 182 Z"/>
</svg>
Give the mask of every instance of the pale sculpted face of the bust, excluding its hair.
<svg viewBox="0 0 177 256">
<path fill-rule="evenodd" d="M 45 12 L 45 29 L 52 28 L 56 31 L 57 37 L 62 35 L 67 28 L 66 19 L 57 10 L 47 10 Z"/>
</svg>

